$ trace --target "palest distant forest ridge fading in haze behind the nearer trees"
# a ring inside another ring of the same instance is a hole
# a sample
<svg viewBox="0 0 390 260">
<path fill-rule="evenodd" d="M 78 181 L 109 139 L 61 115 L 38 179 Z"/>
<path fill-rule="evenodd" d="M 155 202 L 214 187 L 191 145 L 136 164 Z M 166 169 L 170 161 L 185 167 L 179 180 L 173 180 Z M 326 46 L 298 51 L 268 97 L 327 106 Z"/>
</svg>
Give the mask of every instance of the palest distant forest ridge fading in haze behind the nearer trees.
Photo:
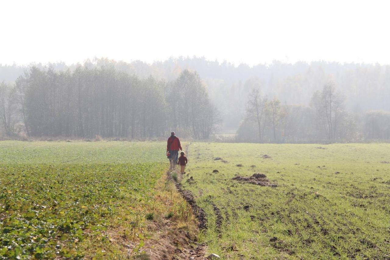
<svg viewBox="0 0 390 260">
<path fill-rule="evenodd" d="M 1 61 L 0 61 L 1 62 Z M 115 61 L 106 58 L 86 60 L 82 66 L 89 69 L 112 66 L 117 71 L 146 79 L 174 81 L 184 69 L 197 71 L 207 87 L 209 98 L 218 104 L 223 119 L 222 128 L 236 130 L 245 117 L 245 104 L 251 89 L 260 87 L 262 94 L 277 97 L 282 104 L 309 106 L 316 91 L 327 82 L 346 96 L 346 110 L 390 110 L 390 65 L 339 62 L 273 61 L 270 64 L 231 64 L 209 61 L 204 57 L 178 57 L 148 64 L 142 61 Z M 44 64 L 35 64 L 43 69 Z M 74 71 L 80 64 L 58 62 L 50 64 L 56 71 Z M 0 82 L 13 83 L 26 67 L 0 64 Z"/>
</svg>

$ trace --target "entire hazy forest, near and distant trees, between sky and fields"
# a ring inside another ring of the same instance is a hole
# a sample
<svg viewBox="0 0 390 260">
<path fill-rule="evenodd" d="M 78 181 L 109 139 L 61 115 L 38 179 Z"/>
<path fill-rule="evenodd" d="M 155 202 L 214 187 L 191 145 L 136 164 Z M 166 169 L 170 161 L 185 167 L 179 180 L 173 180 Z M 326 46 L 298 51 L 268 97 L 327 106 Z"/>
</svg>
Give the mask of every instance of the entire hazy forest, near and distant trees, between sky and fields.
<svg viewBox="0 0 390 260">
<path fill-rule="evenodd" d="M 390 139 L 388 65 L 94 59 L 0 65 L 0 82 L 9 137 L 148 139 L 176 130 L 195 139 L 219 133 L 224 141 Z"/>
</svg>

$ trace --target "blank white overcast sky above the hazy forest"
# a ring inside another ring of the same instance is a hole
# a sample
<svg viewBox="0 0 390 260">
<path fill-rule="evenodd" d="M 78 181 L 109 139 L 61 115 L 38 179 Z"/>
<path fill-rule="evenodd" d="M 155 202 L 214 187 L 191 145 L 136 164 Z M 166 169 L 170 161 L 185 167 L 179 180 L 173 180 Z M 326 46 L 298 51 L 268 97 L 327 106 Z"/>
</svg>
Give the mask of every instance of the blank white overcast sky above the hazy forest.
<svg viewBox="0 0 390 260">
<path fill-rule="evenodd" d="M 390 64 L 390 1 L 0 0 L 0 63 Z"/>
</svg>

